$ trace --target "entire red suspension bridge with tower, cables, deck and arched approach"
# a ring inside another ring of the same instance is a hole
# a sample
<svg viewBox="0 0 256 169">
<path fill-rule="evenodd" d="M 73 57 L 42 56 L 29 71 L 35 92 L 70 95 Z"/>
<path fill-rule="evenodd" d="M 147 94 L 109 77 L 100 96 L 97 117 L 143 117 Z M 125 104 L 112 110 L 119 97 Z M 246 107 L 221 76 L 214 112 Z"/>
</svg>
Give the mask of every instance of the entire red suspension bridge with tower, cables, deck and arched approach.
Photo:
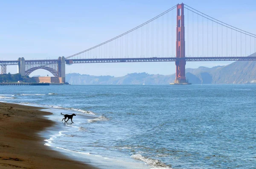
<svg viewBox="0 0 256 169">
<path fill-rule="evenodd" d="M 48 60 L 25 60 L 21 57 L 16 61 L 0 61 L 0 66 L 1 74 L 6 74 L 7 65 L 18 65 L 18 73 L 22 76 L 44 69 L 55 77 L 65 77 L 66 64 L 175 62 L 175 84 L 186 84 L 186 62 L 255 60 L 255 34 L 181 3 L 77 54 Z"/>
</svg>

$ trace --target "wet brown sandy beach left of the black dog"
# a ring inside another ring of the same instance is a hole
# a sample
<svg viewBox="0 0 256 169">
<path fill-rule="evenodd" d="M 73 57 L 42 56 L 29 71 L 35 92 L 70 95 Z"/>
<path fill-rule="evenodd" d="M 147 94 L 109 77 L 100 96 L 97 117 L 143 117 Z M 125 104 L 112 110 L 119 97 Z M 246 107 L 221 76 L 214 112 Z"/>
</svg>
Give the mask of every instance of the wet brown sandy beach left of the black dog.
<svg viewBox="0 0 256 169">
<path fill-rule="evenodd" d="M 0 168 L 95 168 L 44 146 L 44 138 L 38 132 L 53 122 L 43 116 L 49 115 L 48 112 L 38 109 L 0 103 Z"/>
</svg>

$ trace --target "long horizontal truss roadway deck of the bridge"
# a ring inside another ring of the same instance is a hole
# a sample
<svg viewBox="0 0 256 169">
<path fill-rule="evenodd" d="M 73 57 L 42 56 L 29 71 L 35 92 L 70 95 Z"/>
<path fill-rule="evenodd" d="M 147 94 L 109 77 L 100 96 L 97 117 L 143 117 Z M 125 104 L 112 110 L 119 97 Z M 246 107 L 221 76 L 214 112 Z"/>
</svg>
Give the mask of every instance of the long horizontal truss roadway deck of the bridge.
<svg viewBox="0 0 256 169">
<path fill-rule="evenodd" d="M 255 56 L 237 57 L 149 57 L 149 58 L 109 58 L 109 59 L 66 59 L 66 64 L 73 63 L 118 63 L 118 62 L 175 62 L 185 59 L 192 61 L 256 61 Z M 58 63 L 58 59 L 52 60 L 25 60 L 26 65 L 48 65 Z M 18 61 L 0 61 L 0 65 L 18 65 Z"/>
</svg>

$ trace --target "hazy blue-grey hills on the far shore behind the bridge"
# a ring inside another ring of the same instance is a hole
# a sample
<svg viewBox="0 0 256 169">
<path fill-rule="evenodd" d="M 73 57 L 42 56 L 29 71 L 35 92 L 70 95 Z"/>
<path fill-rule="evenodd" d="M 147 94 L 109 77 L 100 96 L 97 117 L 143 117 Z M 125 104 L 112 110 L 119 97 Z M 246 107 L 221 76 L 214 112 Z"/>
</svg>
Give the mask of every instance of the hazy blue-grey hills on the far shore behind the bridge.
<svg viewBox="0 0 256 169">
<path fill-rule="evenodd" d="M 256 61 L 233 62 L 213 68 L 187 68 L 186 78 L 192 84 L 256 84 Z M 129 73 L 122 77 L 90 76 L 79 73 L 66 74 L 66 82 L 71 85 L 168 85 L 175 80 L 172 75 Z"/>
</svg>

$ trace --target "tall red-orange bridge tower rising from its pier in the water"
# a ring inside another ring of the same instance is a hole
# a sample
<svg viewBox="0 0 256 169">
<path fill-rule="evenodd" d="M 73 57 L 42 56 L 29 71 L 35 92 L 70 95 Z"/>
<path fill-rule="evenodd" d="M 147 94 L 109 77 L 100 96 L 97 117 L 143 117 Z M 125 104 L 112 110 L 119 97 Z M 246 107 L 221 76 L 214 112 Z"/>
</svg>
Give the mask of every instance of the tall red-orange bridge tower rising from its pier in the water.
<svg viewBox="0 0 256 169">
<path fill-rule="evenodd" d="M 177 29 L 176 29 L 176 57 L 185 57 L 185 26 L 184 26 L 184 4 L 177 5 Z M 175 85 L 188 85 L 185 76 L 186 60 L 180 59 L 175 62 L 176 77 Z"/>
</svg>

